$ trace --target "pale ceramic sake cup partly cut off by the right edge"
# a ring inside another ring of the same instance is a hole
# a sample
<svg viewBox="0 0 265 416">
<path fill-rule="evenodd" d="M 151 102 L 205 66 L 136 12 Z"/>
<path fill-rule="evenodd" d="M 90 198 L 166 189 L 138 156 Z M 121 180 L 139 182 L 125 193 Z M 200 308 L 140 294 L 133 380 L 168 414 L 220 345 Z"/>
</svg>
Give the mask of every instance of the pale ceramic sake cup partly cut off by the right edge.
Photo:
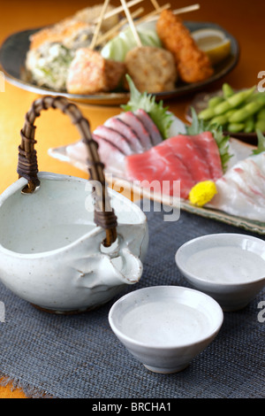
<svg viewBox="0 0 265 416">
<path fill-rule="evenodd" d="M 265 242 L 244 234 L 202 235 L 176 253 L 179 271 L 223 311 L 246 307 L 265 286 Z"/>
</svg>

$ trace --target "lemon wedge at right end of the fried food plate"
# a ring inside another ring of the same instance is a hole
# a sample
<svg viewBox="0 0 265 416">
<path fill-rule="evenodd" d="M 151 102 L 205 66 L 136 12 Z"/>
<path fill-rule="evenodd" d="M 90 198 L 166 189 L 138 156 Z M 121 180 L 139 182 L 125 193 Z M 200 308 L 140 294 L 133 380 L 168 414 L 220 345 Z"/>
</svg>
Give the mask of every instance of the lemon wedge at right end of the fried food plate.
<svg viewBox="0 0 265 416">
<path fill-rule="evenodd" d="M 199 29 L 192 33 L 198 47 L 207 53 L 213 65 L 228 57 L 231 51 L 231 40 L 218 29 Z"/>
</svg>

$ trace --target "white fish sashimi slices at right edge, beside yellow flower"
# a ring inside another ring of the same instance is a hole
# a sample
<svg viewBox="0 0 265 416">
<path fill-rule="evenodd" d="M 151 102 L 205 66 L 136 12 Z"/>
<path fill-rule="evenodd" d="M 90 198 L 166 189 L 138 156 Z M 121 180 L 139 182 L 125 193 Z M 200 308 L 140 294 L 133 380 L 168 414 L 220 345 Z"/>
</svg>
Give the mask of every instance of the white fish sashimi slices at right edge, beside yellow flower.
<svg viewBox="0 0 265 416">
<path fill-rule="evenodd" d="M 239 161 L 216 181 L 216 188 L 209 207 L 265 222 L 265 153 Z"/>
</svg>

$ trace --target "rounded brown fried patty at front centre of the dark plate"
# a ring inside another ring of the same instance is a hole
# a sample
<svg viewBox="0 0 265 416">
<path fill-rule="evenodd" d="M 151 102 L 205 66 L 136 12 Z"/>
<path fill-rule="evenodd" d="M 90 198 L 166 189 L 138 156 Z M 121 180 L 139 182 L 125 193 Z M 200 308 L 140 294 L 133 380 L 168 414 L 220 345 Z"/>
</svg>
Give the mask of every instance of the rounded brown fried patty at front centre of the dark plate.
<svg viewBox="0 0 265 416">
<path fill-rule="evenodd" d="M 127 73 L 140 92 L 161 92 L 175 88 L 177 69 L 169 50 L 142 46 L 125 57 Z"/>
</svg>

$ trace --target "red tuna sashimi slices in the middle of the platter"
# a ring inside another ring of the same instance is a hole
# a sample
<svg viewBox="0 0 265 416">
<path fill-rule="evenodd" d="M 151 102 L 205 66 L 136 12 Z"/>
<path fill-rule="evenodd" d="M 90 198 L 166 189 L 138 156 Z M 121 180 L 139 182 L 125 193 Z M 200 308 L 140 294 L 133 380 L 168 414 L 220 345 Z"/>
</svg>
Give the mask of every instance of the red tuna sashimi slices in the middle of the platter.
<svg viewBox="0 0 265 416">
<path fill-rule="evenodd" d="M 212 135 L 207 135 L 208 142 L 210 137 L 215 141 Z M 163 181 L 170 181 L 170 189 L 174 181 L 180 181 L 180 196 L 186 199 L 196 183 L 214 180 L 214 171 L 215 175 L 220 174 L 220 156 L 216 158 L 217 163 L 210 160 L 214 146 L 201 150 L 201 142 L 200 135 L 178 135 L 144 153 L 128 156 L 125 158 L 126 177 L 129 181 L 145 181 L 142 186 L 146 187 L 148 182 L 160 181 L 163 187 Z"/>
</svg>

